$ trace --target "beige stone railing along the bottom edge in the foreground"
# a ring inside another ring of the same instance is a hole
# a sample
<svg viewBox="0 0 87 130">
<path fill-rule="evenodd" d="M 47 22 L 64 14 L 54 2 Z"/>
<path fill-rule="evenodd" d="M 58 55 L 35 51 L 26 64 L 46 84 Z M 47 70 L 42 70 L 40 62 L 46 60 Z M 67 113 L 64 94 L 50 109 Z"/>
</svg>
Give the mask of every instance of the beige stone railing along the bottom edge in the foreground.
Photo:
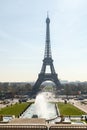
<svg viewBox="0 0 87 130">
<path fill-rule="evenodd" d="M 87 130 L 87 125 L 16 125 L 0 124 L 0 130 Z"/>
</svg>

